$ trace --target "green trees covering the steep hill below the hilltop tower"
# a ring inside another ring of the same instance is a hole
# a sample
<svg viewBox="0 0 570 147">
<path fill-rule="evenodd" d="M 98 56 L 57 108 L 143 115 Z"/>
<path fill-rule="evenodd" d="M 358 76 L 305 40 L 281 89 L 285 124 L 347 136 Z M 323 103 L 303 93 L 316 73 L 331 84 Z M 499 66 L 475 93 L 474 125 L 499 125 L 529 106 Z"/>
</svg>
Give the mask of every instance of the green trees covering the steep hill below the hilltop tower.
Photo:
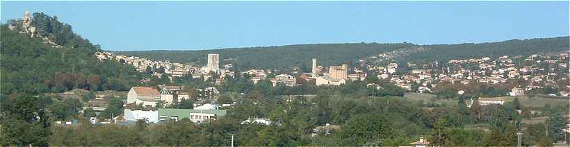
<svg viewBox="0 0 570 147">
<path fill-rule="evenodd" d="M 127 90 L 142 77 L 134 67 L 113 61 L 99 61 L 99 46 L 70 31 L 54 17 L 35 13 L 40 36 L 47 36 L 63 46 L 54 48 L 40 37 L 29 37 L 1 26 L 1 93 L 40 94 L 70 89 Z M 40 21 L 44 20 L 44 21 Z"/>
</svg>

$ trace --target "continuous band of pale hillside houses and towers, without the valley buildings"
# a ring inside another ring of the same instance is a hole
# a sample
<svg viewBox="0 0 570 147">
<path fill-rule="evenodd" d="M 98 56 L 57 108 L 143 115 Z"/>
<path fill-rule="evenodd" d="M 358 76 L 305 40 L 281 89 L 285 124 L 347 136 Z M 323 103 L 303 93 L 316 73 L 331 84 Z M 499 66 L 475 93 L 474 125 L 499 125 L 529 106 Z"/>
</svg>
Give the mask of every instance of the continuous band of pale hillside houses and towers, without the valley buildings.
<svg viewBox="0 0 570 147">
<path fill-rule="evenodd" d="M 384 66 L 374 66 L 366 64 L 365 60 L 359 60 L 364 66 L 349 68 L 347 64 L 339 66 L 330 66 L 323 68 L 317 64 L 317 59 L 311 61 L 311 73 L 274 73 L 273 69 L 250 69 L 240 74 L 249 74 L 253 83 L 259 80 L 270 80 L 272 85 L 283 83 L 286 86 L 293 87 L 300 83 L 314 83 L 314 85 L 341 85 L 347 80 L 365 80 L 367 76 L 376 76 L 379 79 L 389 80 L 389 82 L 398 85 L 407 91 L 419 93 L 432 92 L 432 88 L 437 87 L 437 83 L 461 83 L 468 85 L 469 83 L 485 83 L 491 85 L 500 85 L 508 81 L 516 81 L 518 85 L 510 85 L 510 92 L 505 96 L 523 96 L 532 93 L 533 89 L 541 89 L 542 87 L 558 85 L 560 82 L 568 80 L 568 52 L 557 53 L 555 55 L 530 55 L 523 57 L 516 55 L 509 57 L 507 55 L 498 58 L 470 58 L 449 60 L 446 63 L 426 62 L 398 64 L 390 62 Z M 97 53 L 99 60 L 116 60 L 124 64 L 131 64 L 137 71 L 147 72 L 152 69 L 152 75 L 161 77 L 162 74 L 168 75 L 170 79 L 173 77 L 181 77 L 191 74 L 193 77 L 202 77 L 204 80 L 212 78 L 212 74 L 219 74 L 216 85 L 220 85 L 225 76 L 234 76 L 231 71 L 231 63 L 219 67 L 220 55 L 208 54 L 208 63 L 204 67 L 194 67 L 189 64 L 177 62 L 152 61 L 145 58 L 115 55 L 109 52 Z M 389 60 L 393 57 L 386 56 L 382 53 L 378 56 L 371 56 L 368 59 Z M 163 68 L 163 73 L 154 71 L 154 69 Z M 328 72 L 323 72 L 327 69 Z M 364 72 L 364 71 L 368 72 Z M 268 78 L 268 75 L 275 75 Z M 564 84 L 564 83 L 560 83 Z M 412 89 L 414 87 L 414 89 Z M 560 90 L 551 96 L 569 96 L 567 90 Z"/>
</svg>

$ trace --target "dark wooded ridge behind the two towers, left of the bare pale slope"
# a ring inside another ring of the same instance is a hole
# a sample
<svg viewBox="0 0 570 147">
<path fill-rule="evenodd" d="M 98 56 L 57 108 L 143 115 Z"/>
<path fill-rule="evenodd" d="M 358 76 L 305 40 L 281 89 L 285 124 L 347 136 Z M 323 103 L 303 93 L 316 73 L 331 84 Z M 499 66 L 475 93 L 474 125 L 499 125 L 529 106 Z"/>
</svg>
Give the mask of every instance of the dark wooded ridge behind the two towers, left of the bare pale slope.
<svg viewBox="0 0 570 147">
<path fill-rule="evenodd" d="M 286 69 L 288 67 L 310 67 L 311 58 L 318 58 L 318 64 L 321 66 L 354 64 L 357 58 L 412 46 L 416 45 L 408 43 L 304 44 L 201 51 L 125 51 L 120 53 L 151 60 L 172 60 L 198 65 L 206 64 L 206 54 L 220 53 L 222 63 L 232 62 L 234 67 L 238 68 Z"/>
</svg>

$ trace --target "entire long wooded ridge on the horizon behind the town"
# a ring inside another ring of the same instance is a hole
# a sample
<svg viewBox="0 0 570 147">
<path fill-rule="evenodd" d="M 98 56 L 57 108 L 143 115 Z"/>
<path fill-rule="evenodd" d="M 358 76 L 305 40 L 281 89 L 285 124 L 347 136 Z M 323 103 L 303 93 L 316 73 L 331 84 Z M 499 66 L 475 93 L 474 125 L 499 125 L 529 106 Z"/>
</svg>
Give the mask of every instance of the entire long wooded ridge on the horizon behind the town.
<svg viewBox="0 0 570 147">
<path fill-rule="evenodd" d="M 531 40 L 508 40 L 480 44 L 437 44 L 416 45 L 409 43 L 377 44 L 299 44 L 287 46 L 266 46 L 238 49 L 212 49 L 199 51 L 124 51 L 151 60 L 171 60 L 190 64 L 206 64 L 207 53 L 220 53 L 223 64 L 234 63 L 238 68 L 288 69 L 310 67 L 311 58 L 318 58 L 318 64 L 329 66 L 365 59 L 389 51 L 406 51 L 423 48 L 423 51 L 407 53 L 393 62 L 421 62 L 449 60 L 452 58 L 480 58 L 498 55 L 531 55 L 568 50 L 569 37 L 553 37 Z"/>
</svg>

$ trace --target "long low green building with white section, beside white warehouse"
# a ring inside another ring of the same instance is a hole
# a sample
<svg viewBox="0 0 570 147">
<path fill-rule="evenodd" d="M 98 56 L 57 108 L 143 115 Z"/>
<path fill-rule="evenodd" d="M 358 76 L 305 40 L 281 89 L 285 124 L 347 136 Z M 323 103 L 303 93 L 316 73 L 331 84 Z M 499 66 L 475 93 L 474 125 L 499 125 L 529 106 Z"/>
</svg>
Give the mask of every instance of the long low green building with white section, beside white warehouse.
<svg viewBox="0 0 570 147">
<path fill-rule="evenodd" d="M 215 120 L 220 116 L 225 116 L 227 110 L 190 110 L 190 109 L 158 109 L 158 121 L 178 121 L 179 119 L 190 119 L 198 123 Z"/>
</svg>

